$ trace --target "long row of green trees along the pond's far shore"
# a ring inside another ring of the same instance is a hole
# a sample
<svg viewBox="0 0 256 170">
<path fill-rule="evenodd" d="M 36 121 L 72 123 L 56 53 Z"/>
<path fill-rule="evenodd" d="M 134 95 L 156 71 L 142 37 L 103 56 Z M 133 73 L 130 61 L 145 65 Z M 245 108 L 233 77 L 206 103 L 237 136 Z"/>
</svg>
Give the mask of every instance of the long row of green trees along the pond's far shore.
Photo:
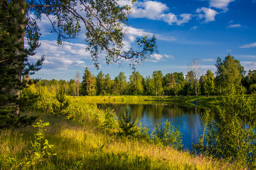
<svg viewBox="0 0 256 170">
<path fill-rule="evenodd" d="M 86 67 L 82 76 L 77 72 L 75 78 L 65 80 L 40 80 L 36 84 L 47 86 L 49 91 L 57 92 L 62 86 L 67 95 L 70 96 L 96 96 L 96 95 L 225 95 L 230 93 L 232 86 L 243 86 L 247 94 L 256 91 L 256 70 L 246 71 L 240 61 L 233 56 L 226 56 L 222 61 L 217 58 L 215 64 L 217 71 L 207 70 L 207 73 L 195 78 L 193 70 L 183 73 L 168 73 L 163 75 L 162 71 L 154 71 L 152 75 L 143 77 L 138 71 L 129 76 L 120 72 L 114 79 L 102 71 L 98 75 L 92 75 Z"/>
</svg>

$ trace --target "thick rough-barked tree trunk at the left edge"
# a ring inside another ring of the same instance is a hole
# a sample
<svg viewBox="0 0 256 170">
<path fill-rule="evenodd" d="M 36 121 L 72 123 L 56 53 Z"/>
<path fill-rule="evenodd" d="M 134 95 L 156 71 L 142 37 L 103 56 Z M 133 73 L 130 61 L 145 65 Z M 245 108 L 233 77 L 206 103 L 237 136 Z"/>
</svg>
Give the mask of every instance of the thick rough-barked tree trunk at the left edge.
<svg viewBox="0 0 256 170">
<path fill-rule="evenodd" d="M 8 5 L 5 5 L 5 3 L 5 1 L 1 0 L 0 11 L 6 12 Z M 10 39 L 7 40 L 5 44 L 1 44 L 1 47 L 6 49 L 6 56 L 3 57 L 6 57 L 8 60 L 5 63 L 7 75 L 6 80 L 4 80 L 7 85 L 2 87 L 0 91 L 7 99 L 4 103 L 1 102 L 1 106 L 10 106 L 14 116 L 18 116 L 19 114 L 20 81 L 24 67 L 24 58 L 26 57 L 24 54 L 24 36 L 26 35 L 27 9 L 25 7 L 25 0 L 13 0 L 13 4 L 7 10 L 9 16 L 6 16 L 5 23 L 3 23 L 5 24 L 3 27 L 5 27 L 4 29 L 6 29 Z M 7 44 L 10 45 L 8 46 Z M 11 45 L 12 47 L 10 48 Z"/>
</svg>

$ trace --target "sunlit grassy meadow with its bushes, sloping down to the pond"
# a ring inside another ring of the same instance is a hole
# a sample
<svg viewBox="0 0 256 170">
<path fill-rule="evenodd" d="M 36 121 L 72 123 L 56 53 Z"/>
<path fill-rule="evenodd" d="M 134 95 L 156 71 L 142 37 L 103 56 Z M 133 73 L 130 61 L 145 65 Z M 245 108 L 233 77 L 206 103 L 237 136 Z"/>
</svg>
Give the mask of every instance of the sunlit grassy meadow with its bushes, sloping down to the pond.
<svg viewBox="0 0 256 170">
<path fill-rule="evenodd" d="M 148 134 L 148 129 L 135 121 L 128 135 L 115 112 L 110 109 L 102 111 L 97 105 L 88 104 L 88 99 L 98 98 L 128 103 L 128 99 L 147 102 L 148 99 L 168 100 L 168 97 L 88 98 L 64 94 L 60 97 L 61 93 L 52 94 L 46 87 L 37 92 L 33 86 L 22 91 L 20 96 L 27 99 L 33 94 L 38 95 L 38 100 L 23 105 L 22 115 L 38 118 L 33 126 L 0 130 L 0 169 L 247 168 L 244 162 L 241 164 L 234 159 L 230 161 L 207 154 L 192 154 L 176 147 L 180 143 L 177 141 L 179 131 L 170 125 L 167 127 L 167 124 L 155 129 L 155 134 Z M 194 99 L 191 97 L 189 100 Z M 131 122 L 125 125 L 130 126 Z M 197 148 L 205 147 L 200 144 Z"/>
</svg>

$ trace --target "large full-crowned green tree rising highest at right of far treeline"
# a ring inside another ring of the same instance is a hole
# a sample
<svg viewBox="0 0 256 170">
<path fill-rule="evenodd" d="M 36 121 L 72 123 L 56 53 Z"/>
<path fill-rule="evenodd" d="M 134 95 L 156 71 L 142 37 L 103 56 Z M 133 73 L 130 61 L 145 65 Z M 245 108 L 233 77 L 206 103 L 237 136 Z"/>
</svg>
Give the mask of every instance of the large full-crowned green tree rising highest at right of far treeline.
<svg viewBox="0 0 256 170">
<path fill-rule="evenodd" d="M 234 56 L 230 56 L 230 54 L 228 54 L 223 61 L 218 57 L 215 66 L 217 68 L 216 83 L 220 88 L 220 94 L 221 87 L 224 92 L 229 92 L 230 94 L 230 90 L 233 85 L 240 86 L 241 79 L 245 75 L 245 71 L 240 65 L 240 61 L 234 59 Z"/>
</svg>

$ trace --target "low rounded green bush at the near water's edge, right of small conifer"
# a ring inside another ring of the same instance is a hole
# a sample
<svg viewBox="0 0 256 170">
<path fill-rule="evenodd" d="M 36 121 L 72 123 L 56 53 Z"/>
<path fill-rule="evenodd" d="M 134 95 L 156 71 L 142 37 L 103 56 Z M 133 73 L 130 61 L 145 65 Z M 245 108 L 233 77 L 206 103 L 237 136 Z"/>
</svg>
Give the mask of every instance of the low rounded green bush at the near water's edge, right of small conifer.
<svg viewBox="0 0 256 170">
<path fill-rule="evenodd" d="M 164 127 L 161 124 L 155 125 L 155 129 L 152 131 L 151 139 L 156 144 L 163 145 L 164 147 L 171 146 L 177 150 L 182 150 L 182 133 L 180 133 L 179 126 L 175 129 L 168 120 L 164 122 Z"/>
</svg>

